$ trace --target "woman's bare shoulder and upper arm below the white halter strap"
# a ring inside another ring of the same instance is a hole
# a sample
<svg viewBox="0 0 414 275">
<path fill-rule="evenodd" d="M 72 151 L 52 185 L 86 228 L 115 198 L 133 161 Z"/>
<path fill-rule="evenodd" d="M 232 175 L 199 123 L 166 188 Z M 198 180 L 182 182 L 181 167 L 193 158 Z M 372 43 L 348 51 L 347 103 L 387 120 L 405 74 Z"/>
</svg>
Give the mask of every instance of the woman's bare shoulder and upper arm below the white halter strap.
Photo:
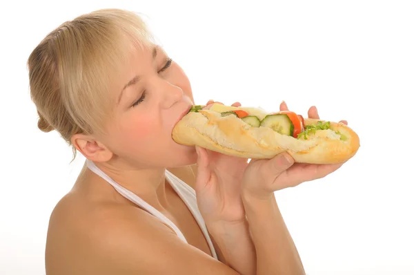
<svg viewBox="0 0 414 275">
<path fill-rule="evenodd" d="M 76 203 L 63 198 L 50 218 L 48 275 L 237 274 L 146 211 Z"/>
</svg>

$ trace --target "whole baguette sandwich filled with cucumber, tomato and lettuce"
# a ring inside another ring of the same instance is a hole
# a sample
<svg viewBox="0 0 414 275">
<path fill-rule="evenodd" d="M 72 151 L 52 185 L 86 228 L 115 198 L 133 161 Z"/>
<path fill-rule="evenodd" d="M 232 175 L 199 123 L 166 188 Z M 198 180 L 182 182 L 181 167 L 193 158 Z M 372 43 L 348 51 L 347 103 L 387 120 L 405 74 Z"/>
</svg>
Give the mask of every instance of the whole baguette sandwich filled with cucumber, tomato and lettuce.
<svg viewBox="0 0 414 275">
<path fill-rule="evenodd" d="M 293 134 L 290 124 L 283 129 L 279 122 L 268 123 L 273 117 L 286 120 L 283 113 L 220 104 L 213 104 L 210 109 L 199 106 L 177 122 L 172 139 L 178 144 L 200 146 L 241 158 L 268 159 L 286 151 L 295 162 L 309 164 L 345 162 L 357 153 L 359 137 L 346 124 L 304 119 L 299 115 L 301 129 L 296 125 Z M 286 123 L 294 121 L 291 113 Z M 276 124 L 279 128 L 275 128 Z"/>
</svg>

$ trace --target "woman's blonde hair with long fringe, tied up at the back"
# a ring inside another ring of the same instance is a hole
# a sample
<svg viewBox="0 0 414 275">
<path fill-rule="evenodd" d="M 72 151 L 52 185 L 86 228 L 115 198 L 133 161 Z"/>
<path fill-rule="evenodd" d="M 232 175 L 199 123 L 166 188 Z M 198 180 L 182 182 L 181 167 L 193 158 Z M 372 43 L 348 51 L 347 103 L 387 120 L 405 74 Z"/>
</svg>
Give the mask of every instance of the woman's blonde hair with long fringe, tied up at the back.
<svg viewBox="0 0 414 275">
<path fill-rule="evenodd" d="M 28 58 L 30 96 L 41 131 L 56 130 L 72 146 L 76 133 L 104 133 L 115 106 L 110 92 L 131 50 L 154 44 L 134 12 L 105 9 L 66 21 Z"/>
</svg>

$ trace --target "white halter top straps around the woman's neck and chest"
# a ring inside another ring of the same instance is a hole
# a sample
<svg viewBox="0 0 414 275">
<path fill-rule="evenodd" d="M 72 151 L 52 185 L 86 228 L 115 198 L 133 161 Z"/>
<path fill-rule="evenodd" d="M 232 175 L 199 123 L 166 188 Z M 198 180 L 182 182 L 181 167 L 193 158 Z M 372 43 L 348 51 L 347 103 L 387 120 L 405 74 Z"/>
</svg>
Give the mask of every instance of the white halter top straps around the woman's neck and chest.
<svg viewBox="0 0 414 275">
<path fill-rule="evenodd" d="M 144 200 L 139 198 L 139 196 L 137 196 L 135 193 L 132 193 L 131 191 L 129 191 L 125 187 L 122 187 L 120 184 L 118 184 L 117 182 L 112 180 L 112 178 L 110 178 L 108 175 L 106 175 L 106 173 L 103 173 L 103 171 L 101 169 L 99 169 L 95 165 L 95 163 L 93 163 L 92 161 L 86 160 L 86 163 L 88 165 L 88 168 L 92 172 L 96 173 L 98 176 L 103 178 L 103 180 L 106 180 L 110 185 L 112 185 L 112 187 L 115 188 L 115 190 L 118 191 L 118 193 L 120 193 L 122 196 L 124 196 L 125 198 L 127 198 L 131 202 L 134 202 L 136 205 L 139 205 L 139 207 L 141 207 L 141 208 L 145 209 L 146 211 L 148 211 L 148 213 L 152 214 L 153 216 L 155 216 L 156 218 L 161 220 L 161 222 L 164 222 L 166 225 L 168 225 L 169 227 L 171 227 L 175 231 L 175 234 L 177 234 L 177 236 L 184 243 L 188 243 L 186 238 L 184 237 L 184 235 L 178 229 L 178 227 L 170 219 L 168 219 L 166 216 L 164 216 L 164 214 L 162 214 L 160 211 L 158 211 L 157 209 L 155 209 L 151 205 L 148 205 L 147 202 L 145 202 Z M 177 194 L 181 198 L 181 200 L 184 201 L 184 203 L 186 204 L 186 206 L 190 210 L 191 214 L 193 214 L 195 220 L 197 221 L 197 224 L 199 225 L 201 231 L 204 234 L 204 237 L 207 240 L 208 247 L 210 247 L 211 254 L 213 255 L 213 257 L 216 260 L 218 260 L 217 254 L 216 254 L 214 246 L 213 246 L 213 243 L 211 242 L 210 236 L 208 235 L 206 224 L 204 223 L 204 219 L 201 216 L 201 214 L 199 212 L 199 209 L 197 207 L 197 199 L 196 199 L 196 196 L 195 196 L 194 189 L 191 188 L 188 184 L 186 184 L 182 180 L 180 180 L 179 178 L 177 178 L 174 174 L 172 174 L 168 170 L 166 170 L 166 180 L 171 185 L 172 189 L 174 189 L 177 192 Z"/>
</svg>

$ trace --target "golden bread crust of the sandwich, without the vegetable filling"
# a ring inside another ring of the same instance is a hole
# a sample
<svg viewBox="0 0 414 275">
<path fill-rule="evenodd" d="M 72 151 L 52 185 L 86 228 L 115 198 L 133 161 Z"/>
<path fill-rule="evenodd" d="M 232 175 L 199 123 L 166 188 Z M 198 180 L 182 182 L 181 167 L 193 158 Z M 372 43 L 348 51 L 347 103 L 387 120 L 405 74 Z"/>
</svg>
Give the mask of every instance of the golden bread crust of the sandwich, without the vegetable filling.
<svg viewBox="0 0 414 275">
<path fill-rule="evenodd" d="M 305 119 L 305 124 L 324 120 Z M 175 125 L 172 139 L 187 146 L 201 146 L 241 158 L 268 159 L 287 151 L 295 162 L 334 164 L 352 158 L 359 137 L 346 124 L 331 122 L 333 130 L 317 130 L 308 140 L 279 134 L 264 126 L 252 127 L 235 115 L 221 116 L 210 110 L 190 112 Z M 341 140 L 339 131 L 346 136 Z"/>
</svg>

